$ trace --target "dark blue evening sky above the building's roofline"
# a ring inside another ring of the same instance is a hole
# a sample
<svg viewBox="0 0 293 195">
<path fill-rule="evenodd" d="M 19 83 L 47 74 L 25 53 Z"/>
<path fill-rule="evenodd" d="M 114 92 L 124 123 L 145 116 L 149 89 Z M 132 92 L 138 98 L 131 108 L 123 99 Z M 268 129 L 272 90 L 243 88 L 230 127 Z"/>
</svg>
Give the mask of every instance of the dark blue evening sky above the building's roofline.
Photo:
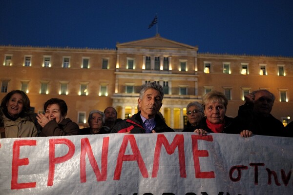
<svg viewBox="0 0 293 195">
<path fill-rule="evenodd" d="M 293 0 L 1 0 L 0 44 L 115 48 L 155 36 L 199 52 L 293 57 Z"/>
</svg>

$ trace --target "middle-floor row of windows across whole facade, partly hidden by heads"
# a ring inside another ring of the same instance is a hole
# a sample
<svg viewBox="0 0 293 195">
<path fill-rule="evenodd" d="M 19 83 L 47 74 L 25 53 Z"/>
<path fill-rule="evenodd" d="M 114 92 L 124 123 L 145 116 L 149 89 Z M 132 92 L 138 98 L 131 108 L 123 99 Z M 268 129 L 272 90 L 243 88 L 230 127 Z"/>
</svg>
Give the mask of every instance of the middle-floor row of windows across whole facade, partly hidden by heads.
<svg viewBox="0 0 293 195">
<path fill-rule="evenodd" d="M 8 89 L 8 82 L 9 81 L 2 81 L 1 82 L 1 93 L 7 93 Z M 145 81 L 150 82 L 148 81 Z M 169 94 L 169 87 L 168 87 L 168 81 L 163 81 L 163 83 L 159 81 L 159 84 L 163 84 L 163 90 L 164 94 Z M 29 93 L 28 91 L 28 81 L 21 81 L 21 91 L 24 91 L 25 93 Z M 40 94 L 49 94 L 48 90 L 48 81 L 41 81 L 41 87 L 40 87 Z M 204 93 L 209 93 L 213 90 L 213 87 L 205 86 L 204 87 Z M 125 93 L 126 94 L 133 94 L 134 91 L 134 84 L 128 83 L 125 87 Z M 251 93 L 250 88 L 242 88 L 242 98 L 244 100 L 244 96 Z M 224 94 L 228 98 L 228 100 L 232 99 L 231 96 L 231 89 L 230 88 L 224 88 Z M 68 82 L 60 82 L 60 90 L 59 95 L 68 95 Z M 78 92 L 78 95 L 80 96 L 87 96 L 88 95 L 88 83 L 81 83 L 80 84 L 80 91 Z M 179 95 L 188 95 L 188 86 L 179 86 Z M 108 96 L 108 87 L 107 85 L 100 85 L 99 90 L 99 96 Z M 279 101 L 281 102 L 288 102 L 287 97 L 287 89 L 279 89 Z"/>
</svg>

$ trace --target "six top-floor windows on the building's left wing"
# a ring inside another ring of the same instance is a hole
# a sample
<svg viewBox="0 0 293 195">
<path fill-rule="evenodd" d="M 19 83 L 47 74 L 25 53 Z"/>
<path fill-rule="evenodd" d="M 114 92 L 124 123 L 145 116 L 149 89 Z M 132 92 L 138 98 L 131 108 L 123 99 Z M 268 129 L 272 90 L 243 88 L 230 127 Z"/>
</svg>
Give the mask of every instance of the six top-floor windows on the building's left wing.
<svg viewBox="0 0 293 195">
<path fill-rule="evenodd" d="M 102 59 L 102 69 L 108 69 L 108 58 Z M 12 55 L 5 55 L 4 59 L 4 66 L 12 66 Z M 32 66 L 32 56 L 25 56 L 23 61 L 23 66 Z M 50 56 L 44 56 L 43 57 L 43 63 L 42 67 L 51 67 L 51 57 Z M 70 57 L 63 57 L 62 62 L 63 68 L 69 68 L 70 67 Z M 88 69 L 89 66 L 89 58 L 83 58 L 82 59 L 82 68 Z"/>
</svg>

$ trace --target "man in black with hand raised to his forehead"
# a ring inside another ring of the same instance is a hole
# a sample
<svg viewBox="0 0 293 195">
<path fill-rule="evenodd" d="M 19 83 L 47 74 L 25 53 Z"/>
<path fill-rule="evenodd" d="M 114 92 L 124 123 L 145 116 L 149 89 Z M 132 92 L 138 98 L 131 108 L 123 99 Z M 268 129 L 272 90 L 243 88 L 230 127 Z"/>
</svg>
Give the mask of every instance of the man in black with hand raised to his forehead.
<svg viewBox="0 0 293 195">
<path fill-rule="evenodd" d="M 275 96 L 265 89 L 253 91 L 245 96 L 245 104 L 239 107 L 234 118 L 237 132 L 244 137 L 255 135 L 286 137 L 283 123 L 272 116 Z"/>
</svg>

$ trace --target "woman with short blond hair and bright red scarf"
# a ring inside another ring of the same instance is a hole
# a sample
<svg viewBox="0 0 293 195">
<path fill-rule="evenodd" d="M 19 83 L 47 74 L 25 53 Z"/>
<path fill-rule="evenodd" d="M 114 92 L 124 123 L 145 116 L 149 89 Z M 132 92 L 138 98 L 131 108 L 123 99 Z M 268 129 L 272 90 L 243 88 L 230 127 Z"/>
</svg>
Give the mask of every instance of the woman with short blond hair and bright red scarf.
<svg viewBox="0 0 293 195">
<path fill-rule="evenodd" d="M 206 135 L 209 133 L 230 133 L 229 126 L 233 118 L 227 117 L 228 99 L 221 92 L 211 91 L 203 96 L 202 105 L 206 117 L 196 126 L 195 133 Z"/>
</svg>

